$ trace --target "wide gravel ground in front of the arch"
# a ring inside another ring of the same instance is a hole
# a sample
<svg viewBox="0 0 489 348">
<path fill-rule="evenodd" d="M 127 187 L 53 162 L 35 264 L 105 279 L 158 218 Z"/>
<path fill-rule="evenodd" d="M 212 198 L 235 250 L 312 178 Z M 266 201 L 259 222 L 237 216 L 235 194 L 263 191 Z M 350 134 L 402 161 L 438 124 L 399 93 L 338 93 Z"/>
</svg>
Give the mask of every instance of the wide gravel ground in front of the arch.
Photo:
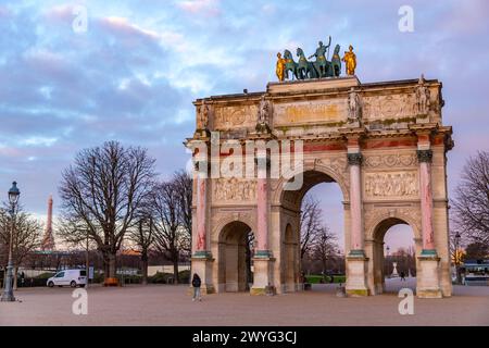
<svg viewBox="0 0 489 348">
<path fill-rule="evenodd" d="M 414 299 L 414 314 L 398 311 L 401 287 L 389 294 L 338 298 L 335 285 L 279 296 L 209 295 L 192 302 L 186 285 L 88 289 L 88 314 L 75 315 L 71 288 L 25 288 L 18 302 L 0 302 L 0 325 L 489 325 L 489 287 L 455 286 L 444 299 Z"/>
</svg>

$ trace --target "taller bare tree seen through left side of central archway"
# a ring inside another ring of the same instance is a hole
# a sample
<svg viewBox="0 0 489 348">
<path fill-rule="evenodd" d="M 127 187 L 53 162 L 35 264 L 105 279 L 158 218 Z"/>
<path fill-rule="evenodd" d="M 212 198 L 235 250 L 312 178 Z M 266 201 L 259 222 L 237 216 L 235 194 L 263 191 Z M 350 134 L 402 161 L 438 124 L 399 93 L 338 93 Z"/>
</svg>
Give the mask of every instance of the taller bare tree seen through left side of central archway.
<svg viewBox="0 0 489 348">
<path fill-rule="evenodd" d="M 318 233 L 323 228 L 322 225 L 323 211 L 319 208 L 319 201 L 313 196 L 305 196 L 301 206 L 301 259 L 310 252 L 314 245 Z"/>
</svg>

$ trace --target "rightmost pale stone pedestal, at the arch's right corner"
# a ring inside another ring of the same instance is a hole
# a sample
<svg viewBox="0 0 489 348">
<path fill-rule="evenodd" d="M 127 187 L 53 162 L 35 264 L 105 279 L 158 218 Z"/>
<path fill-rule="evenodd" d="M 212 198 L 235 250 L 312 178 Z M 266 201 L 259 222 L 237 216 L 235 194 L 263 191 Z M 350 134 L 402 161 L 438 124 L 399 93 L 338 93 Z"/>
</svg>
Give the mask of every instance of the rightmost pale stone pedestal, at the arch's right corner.
<svg viewBox="0 0 489 348">
<path fill-rule="evenodd" d="M 419 273 L 416 274 L 416 294 L 419 298 L 441 298 L 439 263 L 440 258 L 436 253 L 426 253 L 417 258 Z"/>
</svg>

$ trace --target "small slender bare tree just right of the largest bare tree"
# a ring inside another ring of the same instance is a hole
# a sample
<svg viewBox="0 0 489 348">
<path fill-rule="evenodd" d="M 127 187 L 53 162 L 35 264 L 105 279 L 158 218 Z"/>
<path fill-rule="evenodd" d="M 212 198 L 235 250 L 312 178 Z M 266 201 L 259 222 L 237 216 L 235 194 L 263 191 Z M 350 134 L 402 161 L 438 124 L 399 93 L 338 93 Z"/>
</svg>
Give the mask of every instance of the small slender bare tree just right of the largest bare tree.
<svg viewBox="0 0 489 348">
<path fill-rule="evenodd" d="M 136 245 L 141 253 L 142 284 L 148 284 L 148 254 L 153 245 L 153 217 L 151 215 L 141 215 L 136 226 L 128 231 L 129 239 Z"/>
</svg>

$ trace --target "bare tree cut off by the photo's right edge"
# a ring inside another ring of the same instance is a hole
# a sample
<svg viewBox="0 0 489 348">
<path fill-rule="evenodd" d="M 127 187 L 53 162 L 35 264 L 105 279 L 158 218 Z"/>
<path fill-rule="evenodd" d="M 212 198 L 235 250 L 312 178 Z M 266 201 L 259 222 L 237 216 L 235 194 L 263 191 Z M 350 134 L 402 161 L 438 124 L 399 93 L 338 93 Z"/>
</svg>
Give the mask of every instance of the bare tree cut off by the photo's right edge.
<svg viewBox="0 0 489 348">
<path fill-rule="evenodd" d="M 489 151 L 469 158 L 455 189 L 453 228 L 474 243 L 489 245 Z"/>
</svg>

